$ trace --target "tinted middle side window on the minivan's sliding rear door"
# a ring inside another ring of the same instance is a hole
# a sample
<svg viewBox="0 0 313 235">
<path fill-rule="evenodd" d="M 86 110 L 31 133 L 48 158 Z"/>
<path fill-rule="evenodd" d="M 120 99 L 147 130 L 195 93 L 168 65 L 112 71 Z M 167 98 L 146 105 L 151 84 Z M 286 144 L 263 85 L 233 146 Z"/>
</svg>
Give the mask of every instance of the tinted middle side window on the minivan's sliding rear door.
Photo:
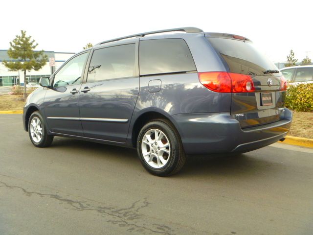
<svg viewBox="0 0 313 235">
<path fill-rule="evenodd" d="M 87 78 L 89 82 L 133 76 L 135 76 L 134 44 L 93 51 Z"/>
</svg>

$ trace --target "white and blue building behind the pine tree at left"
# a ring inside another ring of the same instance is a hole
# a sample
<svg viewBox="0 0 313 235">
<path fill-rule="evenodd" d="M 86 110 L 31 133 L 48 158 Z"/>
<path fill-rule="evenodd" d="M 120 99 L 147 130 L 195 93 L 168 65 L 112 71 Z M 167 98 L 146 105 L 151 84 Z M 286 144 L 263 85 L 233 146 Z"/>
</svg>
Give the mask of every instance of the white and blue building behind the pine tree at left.
<svg viewBox="0 0 313 235">
<path fill-rule="evenodd" d="M 54 52 L 45 51 L 48 56 L 47 63 L 39 71 L 26 71 L 26 84 L 27 83 L 39 83 L 39 79 L 44 76 L 51 75 L 51 69 L 49 66 L 49 58 L 55 59 L 55 70 L 59 69 L 60 66 L 69 59 L 75 53 L 72 52 Z M 17 84 L 24 84 L 24 72 L 23 71 L 9 71 L 2 63 L 3 60 L 14 61 L 9 58 L 7 50 L 0 50 L 0 86 L 13 86 Z"/>
</svg>

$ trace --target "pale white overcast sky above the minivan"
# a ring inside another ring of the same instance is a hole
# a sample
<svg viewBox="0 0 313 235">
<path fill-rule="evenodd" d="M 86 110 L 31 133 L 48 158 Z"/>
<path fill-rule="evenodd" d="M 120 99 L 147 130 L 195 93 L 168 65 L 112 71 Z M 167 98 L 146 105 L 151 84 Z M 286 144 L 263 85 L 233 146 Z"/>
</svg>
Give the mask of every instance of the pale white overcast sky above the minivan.
<svg viewBox="0 0 313 235">
<path fill-rule="evenodd" d="M 26 30 L 36 49 L 78 52 L 87 43 L 194 26 L 251 39 L 274 61 L 290 49 L 313 58 L 312 1 L 305 0 L 1 0 L 0 49 Z"/>
</svg>

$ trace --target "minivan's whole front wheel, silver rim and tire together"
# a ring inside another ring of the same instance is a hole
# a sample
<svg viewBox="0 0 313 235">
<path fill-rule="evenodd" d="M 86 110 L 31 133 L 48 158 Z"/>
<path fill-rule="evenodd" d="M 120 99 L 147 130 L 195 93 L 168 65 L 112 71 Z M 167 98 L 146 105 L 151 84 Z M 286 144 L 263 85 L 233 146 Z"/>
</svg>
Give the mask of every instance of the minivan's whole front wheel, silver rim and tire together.
<svg viewBox="0 0 313 235">
<path fill-rule="evenodd" d="M 53 136 L 47 134 L 44 118 L 38 111 L 32 113 L 29 117 L 28 133 L 30 141 L 36 147 L 47 147 L 53 141 Z"/>
</svg>

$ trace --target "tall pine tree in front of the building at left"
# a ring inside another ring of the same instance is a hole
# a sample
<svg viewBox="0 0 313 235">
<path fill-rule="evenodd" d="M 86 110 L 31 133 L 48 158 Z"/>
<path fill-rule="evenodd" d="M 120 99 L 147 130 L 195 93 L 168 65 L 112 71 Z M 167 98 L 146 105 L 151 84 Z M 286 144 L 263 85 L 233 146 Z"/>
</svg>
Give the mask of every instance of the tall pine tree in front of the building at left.
<svg viewBox="0 0 313 235">
<path fill-rule="evenodd" d="M 16 61 L 3 61 L 5 67 L 9 71 L 24 71 L 24 99 L 26 99 L 26 71 L 38 71 L 47 62 L 48 56 L 44 54 L 44 50 L 34 51 L 38 46 L 35 40 L 31 40 L 31 36 L 26 36 L 26 31 L 21 30 L 22 35 L 16 35 L 16 38 L 10 42 L 8 56 Z"/>
</svg>

